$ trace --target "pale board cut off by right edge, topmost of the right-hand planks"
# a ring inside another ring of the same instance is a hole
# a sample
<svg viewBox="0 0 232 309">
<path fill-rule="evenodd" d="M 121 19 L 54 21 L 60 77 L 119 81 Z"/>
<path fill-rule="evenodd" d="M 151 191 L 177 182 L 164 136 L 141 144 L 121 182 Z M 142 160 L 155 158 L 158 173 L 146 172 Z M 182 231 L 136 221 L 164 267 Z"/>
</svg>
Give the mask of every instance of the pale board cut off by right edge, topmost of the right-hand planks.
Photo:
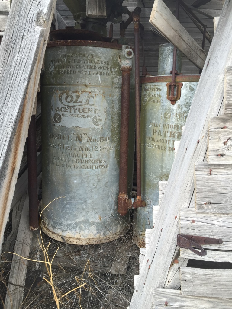
<svg viewBox="0 0 232 309">
<path fill-rule="evenodd" d="M 232 114 L 232 66 L 225 69 L 224 113 Z"/>
</svg>

